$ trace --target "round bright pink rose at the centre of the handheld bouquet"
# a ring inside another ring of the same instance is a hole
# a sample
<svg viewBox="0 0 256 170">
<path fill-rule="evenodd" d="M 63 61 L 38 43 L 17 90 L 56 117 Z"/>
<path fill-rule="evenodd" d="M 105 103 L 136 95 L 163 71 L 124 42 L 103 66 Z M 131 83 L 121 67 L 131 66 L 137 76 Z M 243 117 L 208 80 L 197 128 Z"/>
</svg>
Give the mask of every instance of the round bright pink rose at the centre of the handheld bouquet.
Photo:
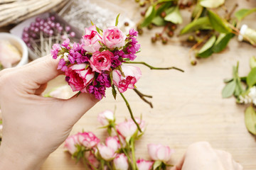
<svg viewBox="0 0 256 170">
<path fill-rule="evenodd" d="M 110 51 L 95 52 L 90 57 L 90 67 L 92 72 L 101 73 L 102 71 L 109 71 L 111 66 L 111 57 L 114 57 Z"/>
</svg>

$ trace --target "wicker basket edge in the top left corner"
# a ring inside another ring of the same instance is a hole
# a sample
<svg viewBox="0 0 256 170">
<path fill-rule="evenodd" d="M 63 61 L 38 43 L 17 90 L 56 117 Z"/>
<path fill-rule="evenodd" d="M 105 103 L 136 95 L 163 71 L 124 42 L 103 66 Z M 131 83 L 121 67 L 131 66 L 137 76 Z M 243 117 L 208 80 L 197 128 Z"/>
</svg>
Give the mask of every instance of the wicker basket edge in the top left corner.
<svg viewBox="0 0 256 170">
<path fill-rule="evenodd" d="M 46 11 L 58 11 L 69 0 L 1 0 L 0 27 L 19 23 Z"/>
</svg>

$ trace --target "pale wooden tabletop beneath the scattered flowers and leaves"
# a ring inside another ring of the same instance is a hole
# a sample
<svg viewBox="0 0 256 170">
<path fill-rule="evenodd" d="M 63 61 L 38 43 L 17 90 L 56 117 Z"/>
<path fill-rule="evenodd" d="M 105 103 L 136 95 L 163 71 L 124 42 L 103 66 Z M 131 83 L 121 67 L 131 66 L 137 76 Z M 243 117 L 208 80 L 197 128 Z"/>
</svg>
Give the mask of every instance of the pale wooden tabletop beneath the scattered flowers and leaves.
<svg viewBox="0 0 256 170">
<path fill-rule="evenodd" d="M 126 6 L 128 10 L 133 10 L 137 5 L 131 1 L 111 1 L 119 6 Z M 228 6 L 231 8 L 235 1 L 228 1 Z M 241 0 L 239 4 L 239 8 L 256 7 L 256 2 L 252 0 Z M 244 23 L 256 28 L 255 17 L 256 13 L 248 16 Z M 186 22 L 188 18 L 185 19 Z M 223 79 L 231 77 L 233 65 L 240 62 L 241 76 L 247 75 L 250 71 L 249 58 L 256 55 L 255 48 L 234 38 L 224 52 L 199 60 L 198 65 L 194 67 L 188 59 L 188 47 L 171 43 L 161 45 L 161 42 L 152 45 L 149 35 L 153 35 L 155 31 L 149 32 L 145 29 L 144 32 L 144 35 L 139 37 L 142 52 L 138 54 L 137 61 L 145 61 L 158 67 L 176 66 L 185 72 L 156 71 L 140 67 L 143 77 L 137 83 L 137 87 L 145 94 L 154 96 L 154 109 L 149 108 L 133 91 L 124 94 L 132 106 L 134 115 L 142 114 L 143 120 L 147 123 L 146 133 L 136 144 L 137 157 L 148 159 L 146 145 L 161 143 L 176 149 L 171 158 L 171 162 L 175 164 L 181 159 L 188 145 L 197 141 L 208 141 L 216 149 L 224 149 L 233 154 L 234 159 L 240 162 L 245 170 L 255 170 L 256 141 L 245 128 L 245 106 L 236 104 L 235 98 L 221 97 L 221 91 L 225 86 Z M 48 89 L 63 83 L 63 77 L 59 77 L 50 82 Z M 122 98 L 117 96 L 117 101 L 114 101 L 109 90 L 107 98 L 88 111 L 75 124 L 71 134 L 84 129 L 95 132 L 98 137 L 105 139 L 105 130 L 97 129 L 100 127 L 97 114 L 106 109 L 114 110 L 114 106 L 117 106 L 117 122 L 129 118 Z M 50 155 L 41 169 L 85 168 L 82 163 L 75 164 L 75 160 L 64 152 L 61 145 Z"/>
</svg>

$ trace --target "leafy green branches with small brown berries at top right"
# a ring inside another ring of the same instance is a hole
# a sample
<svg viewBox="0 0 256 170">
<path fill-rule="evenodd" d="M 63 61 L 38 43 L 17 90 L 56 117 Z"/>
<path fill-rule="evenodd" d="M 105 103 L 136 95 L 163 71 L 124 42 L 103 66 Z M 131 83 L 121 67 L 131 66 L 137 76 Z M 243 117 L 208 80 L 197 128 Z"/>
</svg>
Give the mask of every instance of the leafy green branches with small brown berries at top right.
<svg viewBox="0 0 256 170">
<path fill-rule="evenodd" d="M 256 8 L 242 8 L 235 11 L 238 7 L 238 4 L 235 4 L 228 11 L 228 8 L 225 7 L 225 0 L 187 1 L 186 4 L 178 0 L 136 1 L 139 2 L 139 6 L 146 8 L 141 13 L 142 20 L 139 22 L 137 30 L 139 33 L 143 33 L 142 28 L 144 27 L 149 29 L 155 26 L 164 27 L 161 33 L 156 33 L 151 38 L 151 42 L 161 40 L 163 44 L 168 41 L 175 42 L 175 40 L 169 40 L 168 37 L 172 38 L 178 24 L 183 22 L 180 11 L 191 8 L 191 22 L 181 29 L 178 39 L 181 40 L 181 44 L 192 46 L 189 50 L 189 57 L 193 65 L 196 64 L 195 57 L 206 58 L 213 53 L 225 50 L 228 42 L 235 35 L 238 35 L 240 41 L 250 42 L 254 47 L 256 45 L 256 30 L 240 26 L 242 19 L 255 12 Z M 233 13 L 235 13 L 235 17 L 233 17 Z M 180 35 L 185 34 L 188 36 L 184 41 L 183 36 Z"/>
</svg>

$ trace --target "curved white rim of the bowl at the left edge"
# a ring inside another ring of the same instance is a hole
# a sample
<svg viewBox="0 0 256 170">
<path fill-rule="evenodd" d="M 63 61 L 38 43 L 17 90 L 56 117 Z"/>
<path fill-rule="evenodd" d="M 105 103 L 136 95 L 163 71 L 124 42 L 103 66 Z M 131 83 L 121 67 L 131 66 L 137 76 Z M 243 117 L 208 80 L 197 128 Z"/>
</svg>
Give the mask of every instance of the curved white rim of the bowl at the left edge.
<svg viewBox="0 0 256 170">
<path fill-rule="evenodd" d="M 18 38 L 16 35 L 10 33 L 0 33 L 0 40 L 8 40 L 11 45 L 14 45 L 22 54 L 21 61 L 15 67 L 22 66 L 28 63 L 28 47 L 25 42 Z"/>
</svg>

